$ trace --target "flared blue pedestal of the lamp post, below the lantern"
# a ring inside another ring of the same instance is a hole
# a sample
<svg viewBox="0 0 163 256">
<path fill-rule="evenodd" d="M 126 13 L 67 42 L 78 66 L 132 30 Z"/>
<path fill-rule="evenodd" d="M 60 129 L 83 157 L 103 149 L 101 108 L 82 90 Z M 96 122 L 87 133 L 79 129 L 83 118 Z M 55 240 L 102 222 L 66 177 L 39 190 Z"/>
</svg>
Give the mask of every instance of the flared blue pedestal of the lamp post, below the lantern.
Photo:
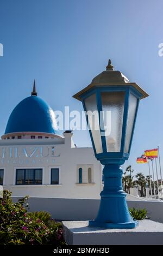
<svg viewBox="0 0 163 256">
<path fill-rule="evenodd" d="M 122 169 L 117 164 L 105 164 L 103 169 L 104 188 L 101 203 L 95 220 L 89 221 L 91 227 L 106 229 L 133 229 L 138 221 L 130 216 L 126 193 L 122 188 Z"/>
</svg>

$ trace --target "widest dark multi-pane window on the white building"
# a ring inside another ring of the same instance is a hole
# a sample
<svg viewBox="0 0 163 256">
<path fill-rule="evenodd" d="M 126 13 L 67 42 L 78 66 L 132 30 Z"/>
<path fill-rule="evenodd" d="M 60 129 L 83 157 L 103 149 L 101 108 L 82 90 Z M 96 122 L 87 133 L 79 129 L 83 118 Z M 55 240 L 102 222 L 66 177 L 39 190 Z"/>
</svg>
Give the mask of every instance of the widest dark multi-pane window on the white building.
<svg viewBox="0 0 163 256">
<path fill-rule="evenodd" d="M 17 169 L 16 184 L 42 184 L 42 169 Z"/>
</svg>

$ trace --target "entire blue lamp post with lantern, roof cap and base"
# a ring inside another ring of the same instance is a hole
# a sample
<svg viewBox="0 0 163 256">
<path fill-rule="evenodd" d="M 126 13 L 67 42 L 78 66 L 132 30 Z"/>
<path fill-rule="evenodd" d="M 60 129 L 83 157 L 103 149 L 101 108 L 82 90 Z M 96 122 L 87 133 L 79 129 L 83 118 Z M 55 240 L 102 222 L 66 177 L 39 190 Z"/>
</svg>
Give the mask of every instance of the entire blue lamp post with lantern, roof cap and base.
<svg viewBox="0 0 163 256">
<path fill-rule="evenodd" d="M 101 204 L 96 219 L 89 221 L 90 226 L 131 229 L 138 225 L 127 207 L 121 165 L 129 157 L 139 100 L 147 96 L 139 85 L 114 70 L 110 59 L 106 70 L 73 96 L 88 111 L 87 124 L 95 157 L 104 165 Z M 92 111 L 98 114 L 96 121 L 90 114 Z M 109 117 L 109 132 L 104 126 L 105 114 Z"/>
</svg>

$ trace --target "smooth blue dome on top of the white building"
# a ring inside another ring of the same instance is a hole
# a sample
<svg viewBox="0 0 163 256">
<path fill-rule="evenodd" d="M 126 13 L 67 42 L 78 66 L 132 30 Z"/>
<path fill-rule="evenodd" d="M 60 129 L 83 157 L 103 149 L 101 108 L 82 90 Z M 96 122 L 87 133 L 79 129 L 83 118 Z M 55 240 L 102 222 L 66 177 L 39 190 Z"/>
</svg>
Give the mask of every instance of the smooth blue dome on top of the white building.
<svg viewBox="0 0 163 256">
<path fill-rule="evenodd" d="M 5 129 L 5 134 L 17 132 L 59 134 L 54 111 L 40 97 L 30 96 L 23 99 L 11 112 Z"/>
</svg>

